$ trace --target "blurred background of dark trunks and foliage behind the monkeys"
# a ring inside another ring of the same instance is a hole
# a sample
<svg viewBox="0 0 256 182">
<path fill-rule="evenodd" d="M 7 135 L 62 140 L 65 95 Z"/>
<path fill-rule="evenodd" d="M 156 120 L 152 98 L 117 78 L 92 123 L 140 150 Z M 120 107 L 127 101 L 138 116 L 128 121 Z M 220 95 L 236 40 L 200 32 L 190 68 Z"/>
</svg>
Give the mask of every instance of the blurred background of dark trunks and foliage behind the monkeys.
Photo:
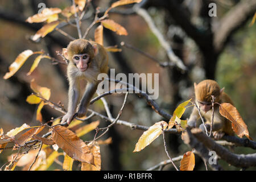
<svg viewBox="0 0 256 182">
<path fill-rule="evenodd" d="M 0 128 L 4 133 L 27 123 L 36 126 L 36 109 L 38 105 L 30 105 L 26 102 L 27 96 L 32 93 L 30 81 L 35 79 L 40 86 L 51 89 L 53 102 L 61 101 L 67 108 L 68 82 L 66 66 L 53 65 L 50 60 L 40 61 L 38 68 L 27 76 L 26 73 L 35 59 L 31 56 L 22 68 L 8 80 L 3 76 L 8 72 L 8 67 L 20 52 L 26 49 L 32 51 L 44 50 L 52 57 L 61 60 L 56 51 L 67 47 L 69 39 L 59 32 L 53 31 L 40 42 L 32 42 L 30 36 L 34 35 L 42 27 L 41 23 L 26 23 L 28 16 L 38 13 L 39 3 L 45 3 L 46 7 L 59 7 L 64 9 L 71 6 L 69 0 L 0 0 Z M 85 19 L 82 21 L 82 32 L 92 23 L 95 7 L 106 10 L 114 1 L 93 0 L 86 10 Z M 210 17 L 209 3 L 216 3 L 217 16 Z M 255 2 L 255 1 L 254 1 Z M 177 105 L 193 98 L 193 82 L 200 82 L 205 78 L 214 79 L 225 92 L 230 95 L 243 120 L 248 126 L 250 136 L 256 139 L 256 24 L 249 26 L 256 10 L 253 1 L 221 0 L 159 0 L 143 1 L 142 8 L 147 10 L 152 20 L 164 38 L 170 43 L 177 56 L 183 60 L 188 71 L 181 71 L 177 67 L 161 67 L 159 64 L 132 49 L 120 46 L 121 42 L 131 44 L 150 54 L 155 59 L 169 61 L 166 51 L 159 40 L 152 33 L 145 20 L 137 15 L 132 7 L 127 5 L 110 11 L 109 18 L 126 28 L 129 35 L 119 36 L 104 28 L 104 46 L 118 45 L 122 52 L 109 52 L 109 67 L 115 69 L 115 73 L 159 73 L 159 98 L 155 100 L 161 109 L 172 114 Z M 247 6 L 247 4 L 250 6 Z M 246 5 L 245 5 L 246 4 Z M 94 26 L 87 36 L 94 39 Z M 77 30 L 72 26 L 63 28 L 77 38 Z M 105 97 L 116 117 L 123 102 L 123 94 L 113 94 Z M 90 108 L 106 114 L 100 101 Z M 183 119 L 189 117 L 191 110 L 187 110 Z M 61 115 L 49 106 L 42 110 L 43 121 L 49 121 L 52 117 Z M 96 121 L 93 117 L 88 121 Z M 156 114 L 146 101 L 129 94 L 127 104 L 121 119 L 139 125 L 151 126 L 155 122 L 165 120 Z M 109 125 L 100 119 L 100 127 Z M 112 137 L 112 144 L 101 147 L 102 170 L 144 170 L 168 159 L 164 152 L 163 139 L 159 137 L 150 146 L 141 152 L 133 153 L 135 144 L 142 135 L 141 130 L 131 130 L 126 126 L 115 125 L 103 139 Z M 94 131 L 82 137 L 83 140 L 92 140 Z M 172 157 L 183 155 L 191 150 L 180 138 L 180 135 L 166 134 L 168 150 Z M 5 150 L 0 155 L 0 166 L 7 162 L 7 156 L 11 150 Z M 236 147 L 237 154 L 250 154 L 255 152 L 250 148 Z M 61 158 L 61 157 L 60 157 Z M 61 159 L 60 159 L 61 160 Z M 238 170 L 228 166 L 220 160 L 220 164 L 226 170 Z M 179 163 L 177 163 L 179 166 Z M 53 163 L 49 169 L 61 168 Z M 79 168 L 79 164 L 73 167 Z M 164 170 L 174 170 L 172 165 L 164 167 Z M 204 170 L 203 161 L 196 156 L 195 170 Z M 255 169 L 255 168 L 249 168 Z"/>
</svg>

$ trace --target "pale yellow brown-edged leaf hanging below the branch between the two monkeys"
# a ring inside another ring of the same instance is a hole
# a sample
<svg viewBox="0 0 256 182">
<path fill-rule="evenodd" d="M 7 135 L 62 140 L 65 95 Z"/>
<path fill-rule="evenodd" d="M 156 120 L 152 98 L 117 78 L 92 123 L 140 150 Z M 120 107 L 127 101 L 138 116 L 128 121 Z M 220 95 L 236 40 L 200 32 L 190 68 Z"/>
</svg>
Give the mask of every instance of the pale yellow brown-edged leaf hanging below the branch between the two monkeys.
<svg viewBox="0 0 256 182">
<path fill-rule="evenodd" d="M 163 129 L 166 129 L 168 124 L 165 121 L 160 121 L 150 126 L 150 128 L 147 131 L 144 131 L 144 133 L 141 135 L 141 138 L 139 138 L 139 141 L 136 143 L 133 152 L 141 151 L 143 148 L 148 146 L 148 144 L 150 144 L 156 138 L 158 138 L 159 135 L 162 134 L 163 132 L 161 124 L 163 125 Z"/>
</svg>

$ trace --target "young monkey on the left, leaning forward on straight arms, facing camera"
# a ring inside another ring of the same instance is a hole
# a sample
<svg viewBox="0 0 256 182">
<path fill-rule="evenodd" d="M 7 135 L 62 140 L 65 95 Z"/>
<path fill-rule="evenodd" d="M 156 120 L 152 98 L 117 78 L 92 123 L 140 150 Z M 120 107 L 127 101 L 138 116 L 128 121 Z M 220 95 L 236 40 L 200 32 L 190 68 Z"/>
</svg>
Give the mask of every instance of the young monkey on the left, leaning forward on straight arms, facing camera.
<svg viewBox="0 0 256 182">
<path fill-rule="evenodd" d="M 84 117 L 100 82 L 97 80 L 97 76 L 100 73 L 108 73 L 109 67 L 108 55 L 104 47 L 85 39 L 70 42 L 64 55 L 69 60 L 67 70 L 69 91 L 68 112 L 63 116 L 61 123 L 67 121 L 69 124 L 76 111 L 77 117 Z M 83 79 L 87 81 L 87 85 L 81 101 L 78 103 L 81 96 L 79 83 Z M 77 104 L 79 105 L 77 106 Z"/>
</svg>

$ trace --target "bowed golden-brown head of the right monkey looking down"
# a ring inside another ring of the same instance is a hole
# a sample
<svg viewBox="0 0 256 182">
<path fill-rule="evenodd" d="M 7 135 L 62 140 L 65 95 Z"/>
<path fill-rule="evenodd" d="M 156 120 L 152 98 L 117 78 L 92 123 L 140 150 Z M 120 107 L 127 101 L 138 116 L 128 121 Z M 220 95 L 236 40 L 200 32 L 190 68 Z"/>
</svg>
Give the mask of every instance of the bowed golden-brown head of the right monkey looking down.
<svg viewBox="0 0 256 182">
<path fill-rule="evenodd" d="M 200 105 L 205 113 L 212 109 L 212 96 L 214 96 L 214 102 L 220 101 L 220 95 L 224 88 L 220 89 L 218 83 L 214 80 L 204 80 L 199 84 L 194 83 L 196 101 Z"/>
</svg>

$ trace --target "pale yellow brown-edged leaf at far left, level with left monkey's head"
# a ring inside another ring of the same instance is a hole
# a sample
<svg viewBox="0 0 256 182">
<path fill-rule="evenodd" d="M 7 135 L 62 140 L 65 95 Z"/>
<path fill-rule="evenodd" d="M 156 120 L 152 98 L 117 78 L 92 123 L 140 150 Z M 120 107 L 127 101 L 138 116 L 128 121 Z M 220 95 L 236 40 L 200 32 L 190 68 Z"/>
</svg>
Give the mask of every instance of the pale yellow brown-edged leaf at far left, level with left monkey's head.
<svg viewBox="0 0 256 182">
<path fill-rule="evenodd" d="M 16 57 L 15 61 L 10 65 L 9 72 L 3 76 L 3 79 L 8 79 L 13 76 L 32 54 L 33 51 L 31 50 L 26 50 L 20 53 L 19 56 Z"/>
</svg>

